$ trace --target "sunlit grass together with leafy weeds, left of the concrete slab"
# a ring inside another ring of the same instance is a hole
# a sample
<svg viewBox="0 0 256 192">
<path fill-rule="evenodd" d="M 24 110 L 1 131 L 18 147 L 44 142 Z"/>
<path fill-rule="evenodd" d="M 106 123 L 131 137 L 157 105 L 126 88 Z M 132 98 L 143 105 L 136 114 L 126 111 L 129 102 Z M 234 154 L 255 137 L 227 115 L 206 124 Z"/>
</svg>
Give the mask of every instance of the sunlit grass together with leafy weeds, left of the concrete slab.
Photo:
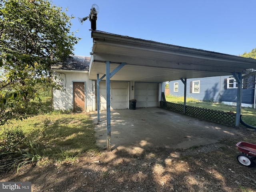
<svg viewBox="0 0 256 192">
<path fill-rule="evenodd" d="M 49 97 L 40 101 L 49 105 Z M 35 113 L 0 126 L 0 171 L 38 161 L 75 161 L 84 152 L 98 153 L 90 115 L 70 110 Z M 42 164 L 47 164 L 43 162 Z"/>
</svg>

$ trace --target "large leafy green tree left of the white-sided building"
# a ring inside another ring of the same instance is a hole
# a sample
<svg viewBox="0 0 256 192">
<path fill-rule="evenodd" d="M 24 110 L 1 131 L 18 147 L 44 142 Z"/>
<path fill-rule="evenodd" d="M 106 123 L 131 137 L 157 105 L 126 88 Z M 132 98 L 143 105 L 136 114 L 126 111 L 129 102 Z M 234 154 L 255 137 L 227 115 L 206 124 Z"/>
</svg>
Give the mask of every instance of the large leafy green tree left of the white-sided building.
<svg viewBox="0 0 256 192">
<path fill-rule="evenodd" d="M 73 17 L 48 0 L 0 0 L 0 124 L 24 118 L 38 87 L 56 87 L 51 65 L 72 54 L 79 40 Z"/>
</svg>

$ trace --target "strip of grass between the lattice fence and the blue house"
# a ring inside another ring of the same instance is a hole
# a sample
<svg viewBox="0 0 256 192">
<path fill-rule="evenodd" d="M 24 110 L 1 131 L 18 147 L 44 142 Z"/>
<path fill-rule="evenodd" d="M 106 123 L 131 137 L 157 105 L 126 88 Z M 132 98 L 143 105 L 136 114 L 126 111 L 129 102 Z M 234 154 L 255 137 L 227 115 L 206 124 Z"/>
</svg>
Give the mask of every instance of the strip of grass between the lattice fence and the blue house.
<svg viewBox="0 0 256 192">
<path fill-rule="evenodd" d="M 166 101 L 183 104 L 184 97 L 167 95 Z M 186 105 L 194 106 L 194 107 L 201 107 L 201 108 L 206 108 L 206 109 L 212 109 L 212 110 L 218 110 L 218 111 L 224 111 L 224 112 L 229 112 L 229 111 L 236 112 L 236 106 L 231 106 L 231 105 L 226 105 L 226 104 L 216 103 L 216 102 L 202 102 L 202 101 L 196 100 L 194 98 L 187 98 Z M 256 109 L 242 107 L 241 114 L 242 114 L 242 120 L 246 124 L 256 127 Z"/>
</svg>

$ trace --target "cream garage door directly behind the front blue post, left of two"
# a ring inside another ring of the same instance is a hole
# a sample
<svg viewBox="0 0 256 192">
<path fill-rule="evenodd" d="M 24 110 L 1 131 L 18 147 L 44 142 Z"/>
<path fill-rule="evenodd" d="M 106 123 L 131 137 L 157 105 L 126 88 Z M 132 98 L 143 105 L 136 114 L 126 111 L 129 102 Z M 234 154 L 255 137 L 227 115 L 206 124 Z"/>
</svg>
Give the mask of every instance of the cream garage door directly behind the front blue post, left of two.
<svg viewBox="0 0 256 192">
<path fill-rule="evenodd" d="M 100 110 L 106 110 L 106 82 L 100 82 Z M 110 82 L 110 109 L 128 108 L 128 82 Z"/>
</svg>

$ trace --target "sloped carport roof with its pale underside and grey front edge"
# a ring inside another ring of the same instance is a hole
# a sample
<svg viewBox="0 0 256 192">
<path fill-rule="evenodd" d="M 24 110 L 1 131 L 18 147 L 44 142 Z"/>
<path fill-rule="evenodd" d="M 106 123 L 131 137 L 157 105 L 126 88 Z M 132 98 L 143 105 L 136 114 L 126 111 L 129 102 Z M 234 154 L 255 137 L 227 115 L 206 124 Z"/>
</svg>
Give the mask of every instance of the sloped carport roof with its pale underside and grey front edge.
<svg viewBox="0 0 256 192">
<path fill-rule="evenodd" d="M 92 31 L 93 48 L 89 78 L 96 80 L 120 63 L 121 68 L 111 80 L 165 82 L 180 78 L 202 78 L 232 75 L 256 68 L 256 59 L 244 58 L 194 48 L 164 44 L 101 31 Z"/>
</svg>

